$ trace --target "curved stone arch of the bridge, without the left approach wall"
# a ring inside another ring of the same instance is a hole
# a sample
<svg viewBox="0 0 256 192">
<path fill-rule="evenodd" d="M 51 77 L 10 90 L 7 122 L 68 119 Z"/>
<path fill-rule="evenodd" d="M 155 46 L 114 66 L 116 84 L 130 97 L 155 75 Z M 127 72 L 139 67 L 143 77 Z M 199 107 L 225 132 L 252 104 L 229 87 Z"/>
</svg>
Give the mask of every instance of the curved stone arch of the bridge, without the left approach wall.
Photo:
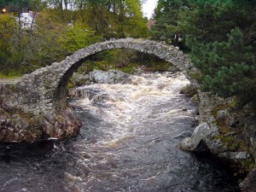
<svg viewBox="0 0 256 192">
<path fill-rule="evenodd" d="M 188 69 L 191 69 L 191 62 L 187 55 L 174 46 L 167 46 L 150 40 L 125 38 L 102 43 L 92 44 L 84 49 L 79 49 L 73 55 L 61 61 L 63 67 L 61 77 L 58 78 L 58 86 L 55 89 L 55 108 L 66 107 L 67 83 L 73 73 L 81 66 L 87 56 L 94 55 L 108 49 L 134 49 L 146 54 L 152 54 L 160 59 L 171 62 L 189 79 Z M 63 75 L 62 75 L 63 74 Z"/>
</svg>

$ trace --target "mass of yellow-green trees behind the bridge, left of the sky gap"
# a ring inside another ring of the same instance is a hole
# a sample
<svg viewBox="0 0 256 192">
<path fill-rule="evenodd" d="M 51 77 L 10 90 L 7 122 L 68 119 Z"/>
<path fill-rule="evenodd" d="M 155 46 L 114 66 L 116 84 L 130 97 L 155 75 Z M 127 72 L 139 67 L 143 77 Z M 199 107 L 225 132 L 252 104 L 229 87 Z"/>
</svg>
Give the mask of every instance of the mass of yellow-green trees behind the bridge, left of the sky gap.
<svg viewBox="0 0 256 192">
<path fill-rule="evenodd" d="M 148 35 L 139 0 L 0 0 L 0 8 L 4 74 L 30 73 L 103 39 Z"/>
</svg>

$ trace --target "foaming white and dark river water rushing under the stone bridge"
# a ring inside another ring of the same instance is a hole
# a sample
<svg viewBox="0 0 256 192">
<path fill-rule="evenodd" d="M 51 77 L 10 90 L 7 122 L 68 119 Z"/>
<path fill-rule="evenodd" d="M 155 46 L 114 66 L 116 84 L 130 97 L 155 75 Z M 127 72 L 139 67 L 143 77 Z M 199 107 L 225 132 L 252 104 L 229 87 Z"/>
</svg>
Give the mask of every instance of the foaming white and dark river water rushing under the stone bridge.
<svg viewBox="0 0 256 192">
<path fill-rule="evenodd" d="M 0 191 L 236 192 L 217 160 L 177 148 L 195 128 L 195 106 L 179 94 L 182 74 L 91 84 L 70 101 L 79 137 L 0 147 Z"/>
</svg>

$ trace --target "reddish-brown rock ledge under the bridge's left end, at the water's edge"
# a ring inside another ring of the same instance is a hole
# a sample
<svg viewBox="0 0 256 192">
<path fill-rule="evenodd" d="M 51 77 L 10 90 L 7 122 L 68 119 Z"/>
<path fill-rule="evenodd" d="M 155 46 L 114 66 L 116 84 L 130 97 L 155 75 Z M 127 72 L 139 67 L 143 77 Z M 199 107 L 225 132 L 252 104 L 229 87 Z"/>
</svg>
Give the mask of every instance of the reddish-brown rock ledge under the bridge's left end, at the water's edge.
<svg viewBox="0 0 256 192">
<path fill-rule="evenodd" d="M 49 138 L 63 139 L 79 133 L 81 121 L 70 108 L 54 114 L 26 113 L 0 103 L 0 142 L 32 143 Z"/>
</svg>

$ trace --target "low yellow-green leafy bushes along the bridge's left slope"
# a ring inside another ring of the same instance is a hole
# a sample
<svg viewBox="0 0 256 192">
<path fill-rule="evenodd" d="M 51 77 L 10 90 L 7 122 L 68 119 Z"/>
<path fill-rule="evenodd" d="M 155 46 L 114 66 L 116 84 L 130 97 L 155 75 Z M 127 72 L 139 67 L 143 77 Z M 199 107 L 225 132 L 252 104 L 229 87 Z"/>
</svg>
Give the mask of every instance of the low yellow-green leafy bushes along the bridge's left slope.
<svg viewBox="0 0 256 192">
<path fill-rule="evenodd" d="M 45 9 L 34 26 L 23 28 L 13 15 L 0 15 L 1 72 L 31 73 L 98 40 L 89 26 L 79 20 L 67 25 L 58 16 Z"/>
</svg>

